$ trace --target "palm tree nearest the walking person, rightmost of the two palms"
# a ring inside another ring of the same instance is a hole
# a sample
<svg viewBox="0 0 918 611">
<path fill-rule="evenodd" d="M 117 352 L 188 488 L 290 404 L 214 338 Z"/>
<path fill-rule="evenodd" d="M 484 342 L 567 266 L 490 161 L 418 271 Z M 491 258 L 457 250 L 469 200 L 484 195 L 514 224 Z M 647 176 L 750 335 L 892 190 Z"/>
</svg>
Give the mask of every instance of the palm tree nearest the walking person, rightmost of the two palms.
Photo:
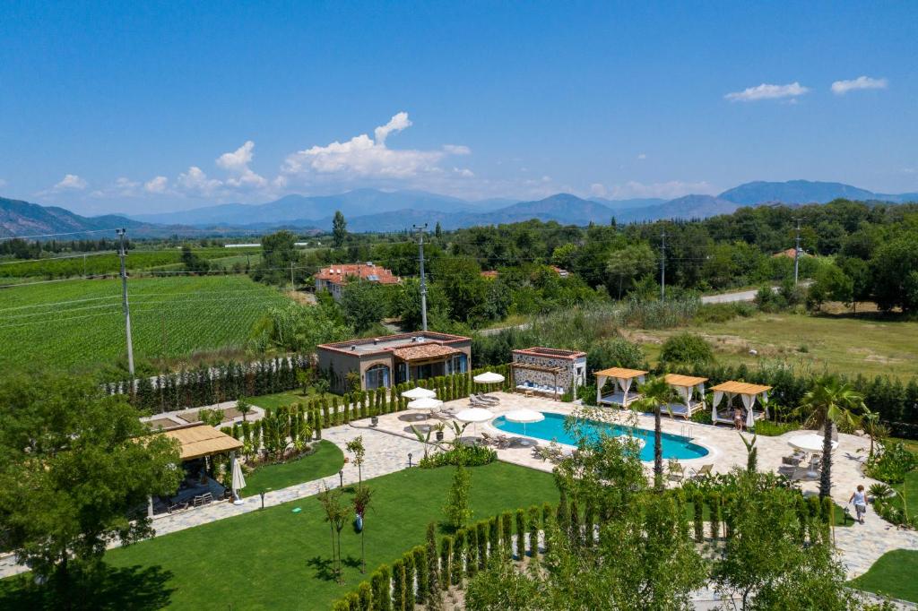
<svg viewBox="0 0 918 611">
<path fill-rule="evenodd" d="M 809 413 L 808 423 L 823 428 L 823 469 L 820 473 L 819 496 L 825 498 L 832 492 L 832 427 L 845 424 L 855 427 L 858 417 L 854 410 L 865 410 L 864 396 L 849 384 L 833 376 L 820 378 L 812 389 L 803 395 L 800 407 Z"/>
</svg>

